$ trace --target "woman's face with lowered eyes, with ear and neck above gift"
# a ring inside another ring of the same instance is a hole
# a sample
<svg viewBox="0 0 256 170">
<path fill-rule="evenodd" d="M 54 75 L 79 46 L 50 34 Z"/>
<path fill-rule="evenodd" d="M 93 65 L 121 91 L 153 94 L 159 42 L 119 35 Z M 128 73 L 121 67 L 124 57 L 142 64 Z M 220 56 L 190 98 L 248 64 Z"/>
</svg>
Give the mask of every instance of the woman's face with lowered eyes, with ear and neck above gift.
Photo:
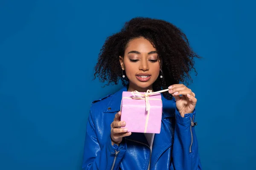
<svg viewBox="0 0 256 170">
<path fill-rule="evenodd" d="M 160 62 L 156 49 L 145 38 L 131 40 L 125 49 L 120 64 L 129 79 L 128 91 L 152 90 L 160 72 Z"/>
</svg>

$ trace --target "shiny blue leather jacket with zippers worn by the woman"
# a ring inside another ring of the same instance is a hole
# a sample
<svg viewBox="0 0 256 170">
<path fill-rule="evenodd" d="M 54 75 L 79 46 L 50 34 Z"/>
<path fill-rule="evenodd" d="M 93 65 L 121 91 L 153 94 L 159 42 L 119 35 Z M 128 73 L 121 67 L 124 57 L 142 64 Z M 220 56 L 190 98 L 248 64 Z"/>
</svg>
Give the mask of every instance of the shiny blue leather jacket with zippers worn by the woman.
<svg viewBox="0 0 256 170">
<path fill-rule="evenodd" d="M 83 170 L 201 170 L 195 135 L 195 110 L 181 117 L 175 99 L 162 96 L 161 131 L 152 150 L 143 133 L 132 133 L 111 144 L 111 123 L 120 111 L 122 92 L 92 102 L 84 144 Z"/>
</svg>

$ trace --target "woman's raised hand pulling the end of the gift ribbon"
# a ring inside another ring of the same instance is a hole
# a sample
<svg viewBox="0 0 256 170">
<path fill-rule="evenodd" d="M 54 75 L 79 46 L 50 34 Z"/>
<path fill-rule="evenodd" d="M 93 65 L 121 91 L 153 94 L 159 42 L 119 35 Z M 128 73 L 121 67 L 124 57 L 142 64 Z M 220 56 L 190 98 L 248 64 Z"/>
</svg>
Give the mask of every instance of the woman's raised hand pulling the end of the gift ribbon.
<svg viewBox="0 0 256 170">
<path fill-rule="evenodd" d="M 183 84 L 176 84 L 169 86 L 169 89 L 169 93 L 176 99 L 176 107 L 180 112 L 180 116 L 184 117 L 186 113 L 194 111 L 197 99 L 189 88 Z"/>
</svg>

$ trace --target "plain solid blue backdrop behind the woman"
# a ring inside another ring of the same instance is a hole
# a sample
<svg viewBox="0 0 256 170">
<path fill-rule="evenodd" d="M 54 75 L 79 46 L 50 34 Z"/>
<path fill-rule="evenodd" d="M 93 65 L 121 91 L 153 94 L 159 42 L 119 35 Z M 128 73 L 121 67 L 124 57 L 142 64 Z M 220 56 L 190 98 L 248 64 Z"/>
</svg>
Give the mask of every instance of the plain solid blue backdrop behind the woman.
<svg viewBox="0 0 256 170">
<path fill-rule="evenodd" d="M 0 170 L 80 170 L 105 38 L 132 17 L 181 28 L 199 55 L 189 86 L 204 170 L 255 170 L 255 3 L 1 0 Z"/>
</svg>

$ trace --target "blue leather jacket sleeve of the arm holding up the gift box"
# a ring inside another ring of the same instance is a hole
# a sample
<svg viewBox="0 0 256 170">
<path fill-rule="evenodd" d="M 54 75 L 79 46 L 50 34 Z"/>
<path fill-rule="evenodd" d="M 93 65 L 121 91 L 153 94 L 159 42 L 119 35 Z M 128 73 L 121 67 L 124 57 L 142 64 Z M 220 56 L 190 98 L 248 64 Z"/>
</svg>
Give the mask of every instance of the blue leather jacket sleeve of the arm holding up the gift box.
<svg viewBox="0 0 256 170">
<path fill-rule="evenodd" d="M 93 114 L 90 110 L 87 121 L 87 129 L 84 142 L 83 170 L 118 170 L 122 157 L 127 146 L 124 142 L 117 146 L 111 144 L 111 137 L 108 135 L 104 146 L 99 144 L 96 128 L 93 121 Z"/>
</svg>

